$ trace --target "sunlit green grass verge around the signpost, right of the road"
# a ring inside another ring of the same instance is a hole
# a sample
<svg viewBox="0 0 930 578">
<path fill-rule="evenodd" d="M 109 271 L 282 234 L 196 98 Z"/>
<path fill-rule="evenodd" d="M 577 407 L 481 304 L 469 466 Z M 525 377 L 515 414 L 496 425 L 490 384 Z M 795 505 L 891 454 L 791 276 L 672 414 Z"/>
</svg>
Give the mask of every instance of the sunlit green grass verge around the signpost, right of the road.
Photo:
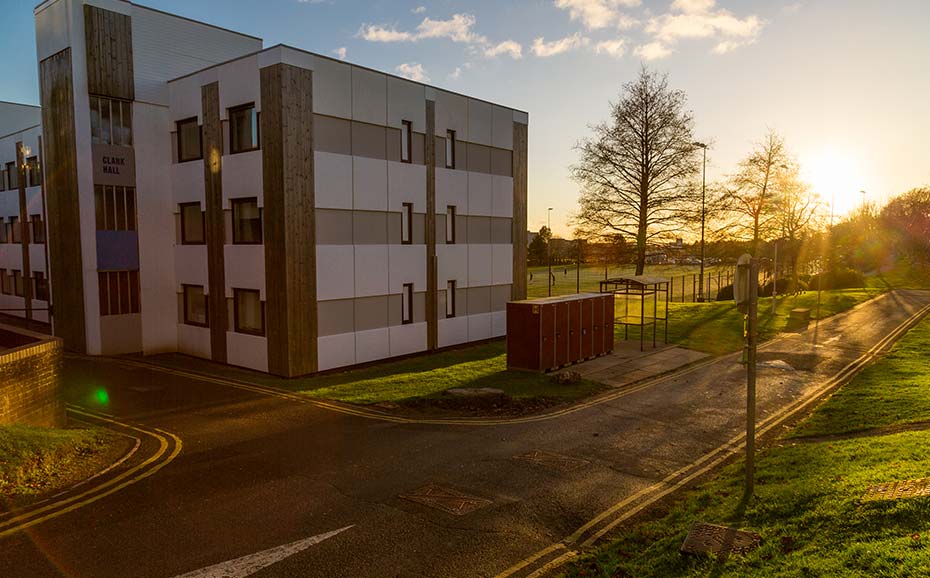
<svg viewBox="0 0 930 578">
<path fill-rule="evenodd" d="M 797 431 L 829 435 L 930 419 L 930 319 L 834 395 Z M 918 359 L 915 359 L 918 357 Z M 877 408 L 875 406 L 878 406 Z M 766 449 L 756 494 L 742 503 L 743 465 L 685 493 L 658 518 L 624 530 L 566 569 L 570 577 L 905 577 L 930 569 L 930 497 L 858 500 L 882 482 L 930 473 L 930 433 L 907 432 Z M 695 520 L 762 535 L 758 550 L 725 561 L 683 556 Z"/>
</svg>

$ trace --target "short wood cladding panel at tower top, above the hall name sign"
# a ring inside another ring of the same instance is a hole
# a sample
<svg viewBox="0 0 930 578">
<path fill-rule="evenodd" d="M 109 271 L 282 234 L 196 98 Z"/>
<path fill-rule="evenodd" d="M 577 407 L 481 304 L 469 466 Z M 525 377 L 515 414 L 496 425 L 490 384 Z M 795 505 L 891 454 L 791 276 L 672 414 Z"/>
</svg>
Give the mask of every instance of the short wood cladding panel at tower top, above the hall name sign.
<svg viewBox="0 0 930 578">
<path fill-rule="evenodd" d="M 127 14 L 84 5 L 87 91 L 133 100 L 132 19 Z"/>
</svg>

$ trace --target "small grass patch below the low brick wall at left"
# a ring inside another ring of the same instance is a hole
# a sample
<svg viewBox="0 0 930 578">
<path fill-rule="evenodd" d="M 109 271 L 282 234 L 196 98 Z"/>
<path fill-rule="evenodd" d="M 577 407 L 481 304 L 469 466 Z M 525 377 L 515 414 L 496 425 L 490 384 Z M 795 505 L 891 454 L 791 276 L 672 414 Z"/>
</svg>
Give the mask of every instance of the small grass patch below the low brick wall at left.
<svg viewBox="0 0 930 578">
<path fill-rule="evenodd" d="M 36 496 L 95 473 L 114 436 L 99 429 L 0 427 L 0 498 Z"/>
</svg>

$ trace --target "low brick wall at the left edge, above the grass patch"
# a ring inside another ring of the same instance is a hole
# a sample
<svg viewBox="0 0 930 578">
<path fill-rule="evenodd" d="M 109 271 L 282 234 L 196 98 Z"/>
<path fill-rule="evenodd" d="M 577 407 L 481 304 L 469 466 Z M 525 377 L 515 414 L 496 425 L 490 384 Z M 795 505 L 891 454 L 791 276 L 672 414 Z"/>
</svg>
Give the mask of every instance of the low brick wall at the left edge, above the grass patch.
<svg viewBox="0 0 930 578">
<path fill-rule="evenodd" d="M 0 425 L 65 422 L 61 340 L 0 327 Z M 24 343 L 25 342 L 25 343 Z"/>
</svg>

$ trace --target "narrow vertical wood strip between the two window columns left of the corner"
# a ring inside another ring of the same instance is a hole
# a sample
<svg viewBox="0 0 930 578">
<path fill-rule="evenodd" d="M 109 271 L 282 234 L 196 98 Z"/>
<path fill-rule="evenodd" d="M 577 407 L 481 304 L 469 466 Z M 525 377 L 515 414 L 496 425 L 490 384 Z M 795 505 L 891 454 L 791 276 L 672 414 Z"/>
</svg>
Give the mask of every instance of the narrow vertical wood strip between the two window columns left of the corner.
<svg viewBox="0 0 930 578">
<path fill-rule="evenodd" d="M 226 363 L 226 216 L 223 213 L 223 125 L 220 122 L 219 83 L 201 87 L 201 104 L 210 351 L 214 361 Z"/>
</svg>

